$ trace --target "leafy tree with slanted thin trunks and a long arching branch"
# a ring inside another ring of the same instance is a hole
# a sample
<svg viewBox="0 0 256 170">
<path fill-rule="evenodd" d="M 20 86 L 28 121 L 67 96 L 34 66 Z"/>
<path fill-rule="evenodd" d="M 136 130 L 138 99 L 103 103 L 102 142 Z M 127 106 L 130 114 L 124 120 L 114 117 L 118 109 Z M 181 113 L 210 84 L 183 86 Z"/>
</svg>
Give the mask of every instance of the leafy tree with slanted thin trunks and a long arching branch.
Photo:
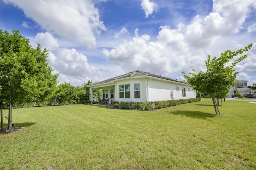
<svg viewBox="0 0 256 170">
<path fill-rule="evenodd" d="M 234 66 L 238 64 L 238 62 L 242 61 L 247 57 L 247 55 L 242 55 L 238 57 L 235 61 L 233 61 L 229 66 L 226 66 L 233 57 L 237 57 L 237 55 L 248 51 L 252 47 L 252 43 L 245 47 L 244 49 L 239 49 L 238 51 L 225 51 L 225 53 L 221 53 L 220 57 L 213 57 L 210 60 L 210 55 L 208 55 L 208 59 L 205 61 L 207 70 L 206 72 L 200 71 L 198 74 L 195 73 L 195 70 L 192 69 L 193 72 L 189 74 L 191 77 L 184 74 L 184 77 L 187 79 L 188 84 L 191 84 L 194 90 L 206 93 L 212 96 L 212 102 L 214 105 L 215 113 L 220 114 L 218 109 L 218 105 L 216 104 L 216 100 L 214 94 L 218 94 L 218 92 L 224 92 L 224 94 L 228 93 L 231 84 L 234 84 L 234 80 L 236 79 L 236 74 Z"/>
</svg>

